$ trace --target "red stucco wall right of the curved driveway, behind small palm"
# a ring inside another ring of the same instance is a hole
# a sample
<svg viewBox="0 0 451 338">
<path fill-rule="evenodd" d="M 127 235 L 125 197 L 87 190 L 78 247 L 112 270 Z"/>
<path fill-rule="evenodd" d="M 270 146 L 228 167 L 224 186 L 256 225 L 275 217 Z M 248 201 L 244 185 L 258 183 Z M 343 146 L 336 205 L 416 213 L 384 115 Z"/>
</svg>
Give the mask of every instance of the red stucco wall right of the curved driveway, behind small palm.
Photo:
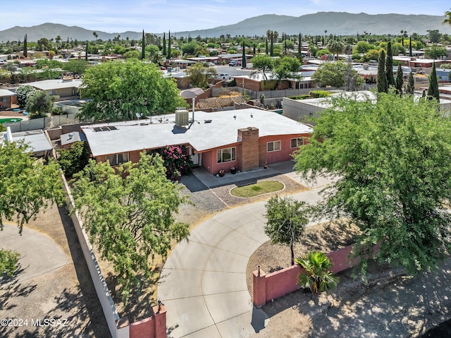
<svg viewBox="0 0 451 338">
<path fill-rule="evenodd" d="M 359 258 L 350 259 L 350 253 L 353 246 L 346 246 L 337 251 L 328 253 L 332 262 L 330 269 L 334 274 L 346 270 L 360 262 Z M 377 248 L 375 248 L 375 251 Z M 297 285 L 297 275 L 303 272 L 299 265 L 292 265 L 283 270 L 265 274 L 264 271 L 254 271 L 254 295 L 253 303 L 255 306 L 264 306 L 266 302 L 276 299 L 285 294 L 299 289 Z"/>
</svg>

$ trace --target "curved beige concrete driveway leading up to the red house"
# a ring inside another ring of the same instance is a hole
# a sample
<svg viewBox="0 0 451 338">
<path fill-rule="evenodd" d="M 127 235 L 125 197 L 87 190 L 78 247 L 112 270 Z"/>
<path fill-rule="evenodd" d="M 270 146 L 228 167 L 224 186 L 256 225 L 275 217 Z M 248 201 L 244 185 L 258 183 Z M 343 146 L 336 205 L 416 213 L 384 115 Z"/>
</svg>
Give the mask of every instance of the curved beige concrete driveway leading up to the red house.
<svg viewBox="0 0 451 338">
<path fill-rule="evenodd" d="M 295 173 L 285 174 L 299 179 Z M 328 181 L 316 186 L 323 183 Z M 316 203 L 321 199 L 317 190 L 293 197 Z M 168 337 L 249 337 L 264 328 L 266 315 L 253 307 L 246 284 L 249 257 L 268 241 L 264 205 L 218 213 L 192 231 L 189 243 L 171 252 L 158 286 L 158 297 L 168 310 Z"/>
</svg>

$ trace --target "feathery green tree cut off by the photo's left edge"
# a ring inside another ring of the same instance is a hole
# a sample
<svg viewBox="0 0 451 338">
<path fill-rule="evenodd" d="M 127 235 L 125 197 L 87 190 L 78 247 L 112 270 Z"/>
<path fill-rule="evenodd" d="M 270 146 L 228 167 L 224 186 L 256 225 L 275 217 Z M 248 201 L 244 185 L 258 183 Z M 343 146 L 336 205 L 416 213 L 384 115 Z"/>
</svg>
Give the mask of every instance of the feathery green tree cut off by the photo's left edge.
<svg viewBox="0 0 451 338">
<path fill-rule="evenodd" d="M 51 159 L 44 164 L 32 157 L 23 143 L 0 143 L 0 229 L 2 219 L 16 219 L 21 234 L 23 225 L 39 211 L 63 202 L 58 168 Z"/>
</svg>

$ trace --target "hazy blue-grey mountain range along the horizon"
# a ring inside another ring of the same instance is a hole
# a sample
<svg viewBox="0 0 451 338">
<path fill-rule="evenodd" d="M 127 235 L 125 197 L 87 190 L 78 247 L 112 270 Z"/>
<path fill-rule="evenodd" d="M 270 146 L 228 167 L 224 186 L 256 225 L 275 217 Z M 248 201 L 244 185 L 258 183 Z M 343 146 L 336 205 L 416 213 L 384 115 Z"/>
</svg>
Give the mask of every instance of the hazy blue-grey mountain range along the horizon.
<svg viewBox="0 0 451 338">
<path fill-rule="evenodd" d="M 302 33 L 304 35 L 323 35 L 327 30 L 328 34 L 335 35 L 357 35 L 368 32 L 371 34 L 400 34 L 401 30 L 408 34 L 418 33 L 426 35 L 428 30 L 439 30 L 442 33 L 451 33 L 450 25 L 442 25 L 443 16 L 424 15 L 404 15 L 404 14 L 376 14 L 366 13 L 345 13 L 345 12 L 319 12 L 304 16 L 278 16 L 276 14 L 266 14 L 247 18 L 233 25 L 223 25 L 206 30 L 192 30 L 184 32 L 171 32 L 176 37 L 219 37 L 221 35 L 245 35 L 261 36 L 266 35 L 267 30 L 276 30 L 281 35 L 285 32 L 290 35 Z M 143 24 L 145 30 L 145 24 Z M 94 40 L 92 33 L 94 30 L 87 30 L 78 26 L 67 26 L 57 23 L 44 23 L 32 27 L 15 26 L 7 30 L 0 31 L 0 41 L 23 41 L 25 34 L 28 41 L 37 41 L 42 37 L 47 39 L 56 38 L 58 35 L 62 40 Z M 139 40 L 142 32 L 101 32 L 96 31 L 98 39 L 109 40 L 117 35 L 122 39 L 128 37 L 130 40 Z M 152 32 L 162 35 L 163 32 Z"/>
</svg>

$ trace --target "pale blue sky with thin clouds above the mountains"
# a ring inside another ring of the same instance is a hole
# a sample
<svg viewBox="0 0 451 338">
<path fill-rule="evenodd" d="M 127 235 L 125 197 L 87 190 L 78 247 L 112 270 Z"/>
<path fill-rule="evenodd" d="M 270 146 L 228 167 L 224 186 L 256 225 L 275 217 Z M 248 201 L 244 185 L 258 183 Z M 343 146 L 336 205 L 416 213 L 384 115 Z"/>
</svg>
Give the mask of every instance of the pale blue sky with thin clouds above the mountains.
<svg viewBox="0 0 451 338">
<path fill-rule="evenodd" d="M 443 16 L 450 0 L 0 0 L 0 30 L 41 23 L 103 32 L 180 32 L 231 25 L 263 14 L 302 16 L 319 11 Z"/>
</svg>

